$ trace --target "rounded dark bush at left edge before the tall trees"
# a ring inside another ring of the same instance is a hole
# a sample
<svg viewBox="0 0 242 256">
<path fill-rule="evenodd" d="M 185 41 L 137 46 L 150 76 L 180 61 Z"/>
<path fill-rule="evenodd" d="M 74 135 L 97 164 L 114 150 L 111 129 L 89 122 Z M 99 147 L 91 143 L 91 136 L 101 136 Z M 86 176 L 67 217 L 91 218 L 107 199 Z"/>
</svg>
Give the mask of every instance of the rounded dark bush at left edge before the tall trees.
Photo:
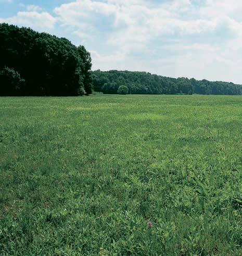
<svg viewBox="0 0 242 256">
<path fill-rule="evenodd" d="M 0 70 L 0 95 L 18 95 L 23 84 L 24 79 L 13 68 L 4 67 Z"/>
</svg>

